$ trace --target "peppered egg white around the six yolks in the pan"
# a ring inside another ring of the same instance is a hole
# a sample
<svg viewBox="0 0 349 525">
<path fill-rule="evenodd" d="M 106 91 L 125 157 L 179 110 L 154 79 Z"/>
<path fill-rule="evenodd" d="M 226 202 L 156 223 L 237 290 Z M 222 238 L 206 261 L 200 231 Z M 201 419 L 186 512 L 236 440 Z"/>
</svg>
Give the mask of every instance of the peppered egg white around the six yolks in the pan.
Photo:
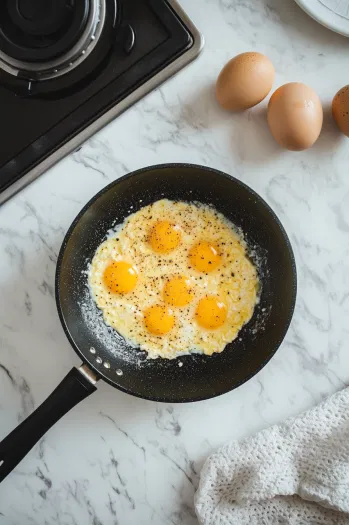
<svg viewBox="0 0 349 525">
<path fill-rule="evenodd" d="M 170 221 L 181 232 L 180 245 L 166 255 L 155 253 L 148 243 L 149 231 L 158 221 Z M 213 272 L 200 273 L 189 266 L 189 250 L 199 241 L 219 247 L 221 264 Z M 113 294 L 103 282 L 105 268 L 121 260 L 138 272 L 137 286 L 125 295 Z M 164 285 L 177 275 L 189 280 L 194 298 L 185 307 L 171 308 L 175 326 L 170 332 L 152 335 L 145 327 L 144 311 L 163 304 Z M 149 358 L 222 352 L 252 317 L 259 289 L 257 271 L 247 256 L 242 235 L 222 214 L 207 205 L 167 199 L 145 206 L 116 228 L 97 249 L 88 279 L 106 324 L 148 352 Z M 198 302 L 207 295 L 219 296 L 228 309 L 224 325 L 215 330 L 205 330 L 195 320 Z"/>
</svg>

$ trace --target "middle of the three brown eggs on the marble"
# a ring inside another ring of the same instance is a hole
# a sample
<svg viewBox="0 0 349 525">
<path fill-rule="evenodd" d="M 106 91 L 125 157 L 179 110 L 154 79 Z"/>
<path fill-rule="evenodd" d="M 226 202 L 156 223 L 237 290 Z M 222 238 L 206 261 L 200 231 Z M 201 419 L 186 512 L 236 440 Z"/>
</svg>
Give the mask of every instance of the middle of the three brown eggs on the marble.
<svg viewBox="0 0 349 525">
<path fill-rule="evenodd" d="M 269 100 L 270 131 L 283 148 L 291 151 L 310 148 L 320 135 L 322 120 L 318 95 L 300 82 L 284 84 Z"/>
</svg>

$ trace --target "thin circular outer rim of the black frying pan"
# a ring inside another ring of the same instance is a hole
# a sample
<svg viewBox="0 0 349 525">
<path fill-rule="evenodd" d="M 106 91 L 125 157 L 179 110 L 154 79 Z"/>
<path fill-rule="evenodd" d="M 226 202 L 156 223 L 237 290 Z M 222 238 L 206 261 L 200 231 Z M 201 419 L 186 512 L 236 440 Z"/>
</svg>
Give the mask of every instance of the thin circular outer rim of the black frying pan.
<svg viewBox="0 0 349 525">
<path fill-rule="evenodd" d="M 78 345 L 75 344 L 75 341 L 71 337 L 69 328 L 68 328 L 68 326 L 66 324 L 66 321 L 65 321 L 65 318 L 64 318 L 64 315 L 63 315 L 63 312 L 62 312 L 61 301 L 60 301 L 59 280 L 60 280 L 60 274 L 61 274 L 62 261 L 63 261 L 63 257 L 64 257 L 64 253 L 65 253 L 65 249 L 66 249 L 66 246 L 68 244 L 68 241 L 69 241 L 69 239 L 70 239 L 70 237 L 71 237 L 71 235 L 72 235 L 76 225 L 78 224 L 80 218 L 92 206 L 92 204 L 94 204 L 99 199 L 99 197 L 101 197 L 104 193 L 109 191 L 110 188 L 112 188 L 114 186 L 117 186 L 122 181 L 124 181 L 126 179 L 129 179 L 129 178 L 137 177 L 138 175 L 140 175 L 140 174 L 142 174 L 144 172 L 161 170 L 161 169 L 183 169 L 183 168 L 196 169 L 196 170 L 199 170 L 199 171 L 204 170 L 206 172 L 214 173 L 214 174 L 216 174 L 216 175 L 218 175 L 220 177 L 223 177 L 225 179 L 232 180 L 234 183 L 236 183 L 237 185 L 239 185 L 242 188 L 244 188 L 252 197 L 254 197 L 257 201 L 259 201 L 266 208 L 266 210 L 270 213 L 270 215 L 272 216 L 273 220 L 275 221 L 275 224 L 278 226 L 278 228 L 279 228 L 279 230 L 280 230 L 280 232 L 282 234 L 282 237 L 283 237 L 283 240 L 284 240 L 284 243 L 285 243 L 285 247 L 287 248 L 288 255 L 289 255 L 289 258 L 290 258 L 290 262 L 291 262 L 293 282 L 292 282 L 291 305 L 290 305 L 290 309 L 289 309 L 289 312 L 288 312 L 287 320 L 284 323 L 283 334 L 280 337 L 280 340 L 279 340 L 278 344 L 275 346 L 274 350 L 270 353 L 268 358 L 265 359 L 261 363 L 261 365 L 258 368 L 255 369 L 255 371 L 253 373 L 249 374 L 248 376 L 246 376 L 241 381 L 238 381 L 236 384 L 234 384 L 234 386 L 232 388 L 229 388 L 228 390 L 226 390 L 224 392 L 219 392 L 217 394 L 212 394 L 212 395 L 196 396 L 195 398 L 185 397 L 185 398 L 179 400 L 177 398 L 176 399 L 172 398 L 171 395 L 169 395 L 169 396 L 140 395 L 137 392 L 134 392 L 133 390 L 130 390 L 130 389 L 127 389 L 127 388 L 124 388 L 124 387 L 118 385 L 116 382 L 114 382 L 113 380 L 111 380 L 107 376 L 105 376 L 101 372 L 101 370 L 99 370 L 94 364 L 92 364 L 90 361 L 88 361 L 86 359 L 86 356 L 83 354 L 83 352 L 78 347 Z M 288 332 L 288 329 L 290 327 L 290 324 L 291 324 L 291 321 L 292 321 L 292 318 L 293 318 L 293 314 L 294 314 L 294 311 L 295 311 L 296 298 L 297 298 L 297 267 L 296 267 L 295 256 L 294 256 L 293 248 L 292 248 L 290 239 L 289 239 L 289 237 L 287 235 L 287 232 L 286 232 L 284 226 L 282 225 L 280 219 L 278 218 L 278 216 L 274 212 L 274 210 L 270 207 L 270 205 L 255 190 L 253 190 L 250 186 L 248 186 L 247 184 L 245 184 L 241 180 L 239 180 L 236 177 L 233 177 L 232 175 L 229 175 L 228 173 L 225 173 L 223 171 L 217 170 L 215 168 L 211 168 L 209 166 L 200 165 L 200 164 L 179 163 L 179 162 L 154 164 L 152 166 L 146 166 L 144 168 L 140 168 L 138 170 L 129 172 L 129 173 L 123 175 L 122 177 L 119 177 L 118 179 L 116 179 L 116 180 L 110 182 L 109 184 L 107 184 L 104 188 L 102 188 L 99 192 L 97 192 L 83 206 L 83 208 L 80 210 L 80 212 L 76 215 L 76 217 L 74 218 L 74 220 L 70 224 L 70 226 L 69 226 L 69 228 L 68 228 L 68 230 L 67 230 L 67 232 L 66 232 L 66 234 L 65 234 L 65 236 L 63 238 L 63 241 L 62 241 L 62 244 L 61 244 L 61 247 L 60 247 L 60 250 L 59 250 L 59 254 L 58 254 L 58 257 L 57 257 L 57 263 L 56 263 L 56 273 L 55 273 L 56 308 L 57 308 L 58 316 L 59 316 L 62 328 L 64 330 L 64 333 L 65 333 L 65 335 L 66 335 L 70 345 L 74 349 L 75 353 L 80 357 L 80 359 L 82 359 L 84 364 L 86 364 L 89 368 L 91 368 L 91 370 L 93 370 L 93 372 L 96 374 L 96 376 L 99 379 L 102 379 L 103 381 L 105 381 L 109 385 L 111 385 L 114 388 L 120 390 L 121 392 L 124 392 L 125 394 L 129 394 L 129 395 L 132 395 L 134 397 L 138 397 L 140 399 L 146 399 L 146 400 L 149 400 L 149 401 L 156 401 L 156 402 L 163 402 L 163 403 L 173 403 L 173 404 L 174 403 L 177 404 L 177 403 L 191 403 L 191 402 L 197 402 L 197 401 L 205 401 L 205 400 L 208 400 L 208 399 L 213 399 L 215 397 L 219 397 L 221 395 L 227 394 L 228 392 L 231 392 L 231 391 L 235 390 L 239 386 L 243 385 L 244 383 L 246 383 L 247 381 L 252 379 L 252 377 L 256 376 L 268 364 L 268 362 L 276 354 L 276 352 L 280 348 L 283 340 L 285 339 L 285 336 L 286 336 L 286 334 Z"/>
</svg>

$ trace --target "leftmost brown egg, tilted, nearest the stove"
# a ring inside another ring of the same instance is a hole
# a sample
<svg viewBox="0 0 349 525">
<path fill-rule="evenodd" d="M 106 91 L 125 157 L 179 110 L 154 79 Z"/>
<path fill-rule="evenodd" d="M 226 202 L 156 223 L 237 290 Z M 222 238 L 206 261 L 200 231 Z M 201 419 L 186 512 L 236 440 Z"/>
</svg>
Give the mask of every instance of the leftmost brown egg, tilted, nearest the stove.
<svg viewBox="0 0 349 525">
<path fill-rule="evenodd" d="M 230 111 L 243 111 L 259 104 L 273 87 L 275 70 L 261 53 L 242 53 L 229 60 L 216 83 L 219 104 Z"/>
</svg>

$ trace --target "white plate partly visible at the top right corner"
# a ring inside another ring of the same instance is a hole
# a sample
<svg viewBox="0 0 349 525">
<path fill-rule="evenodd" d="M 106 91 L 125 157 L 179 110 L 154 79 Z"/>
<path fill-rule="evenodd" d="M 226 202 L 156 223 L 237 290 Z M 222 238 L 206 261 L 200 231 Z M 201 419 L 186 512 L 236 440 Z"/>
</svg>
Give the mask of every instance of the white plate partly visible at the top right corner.
<svg viewBox="0 0 349 525">
<path fill-rule="evenodd" d="M 349 0 L 295 0 L 314 20 L 349 37 Z"/>
</svg>

